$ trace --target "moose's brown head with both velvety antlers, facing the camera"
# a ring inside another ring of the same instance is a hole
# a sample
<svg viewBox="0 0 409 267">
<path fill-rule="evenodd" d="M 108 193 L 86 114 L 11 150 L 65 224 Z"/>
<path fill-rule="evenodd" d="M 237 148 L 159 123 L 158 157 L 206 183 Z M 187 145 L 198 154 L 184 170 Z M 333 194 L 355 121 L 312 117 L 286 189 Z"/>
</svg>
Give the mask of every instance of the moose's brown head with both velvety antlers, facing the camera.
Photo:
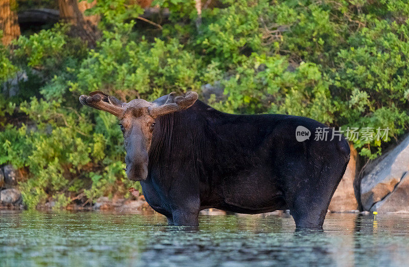
<svg viewBox="0 0 409 267">
<path fill-rule="evenodd" d="M 148 152 L 152 142 L 155 119 L 178 112 L 192 106 L 197 93 L 188 92 L 185 96 L 175 97 L 175 92 L 162 96 L 153 102 L 133 99 L 128 103 L 101 91 L 80 96 L 80 102 L 96 109 L 115 115 L 120 120 L 126 150 L 126 174 L 133 181 L 143 181 L 148 175 Z"/>
</svg>

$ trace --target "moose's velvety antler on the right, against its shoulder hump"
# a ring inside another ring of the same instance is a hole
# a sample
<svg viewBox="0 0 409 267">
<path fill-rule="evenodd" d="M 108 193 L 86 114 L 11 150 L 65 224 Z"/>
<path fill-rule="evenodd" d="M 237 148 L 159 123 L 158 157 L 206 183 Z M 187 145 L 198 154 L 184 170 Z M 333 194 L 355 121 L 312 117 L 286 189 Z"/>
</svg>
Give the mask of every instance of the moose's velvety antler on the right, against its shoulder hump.
<svg viewBox="0 0 409 267">
<path fill-rule="evenodd" d="M 157 118 L 159 116 L 187 109 L 195 103 L 197 97 L 198 95 L 196 92 L 188 92 L 185 96 L 175 97 L 173 103 L 169 103 L 169 101 L 166 101 L 166 103 L 163 105 L 150 106 L 148 108 L 149 115 L 153 118 Z"/>
</svg>

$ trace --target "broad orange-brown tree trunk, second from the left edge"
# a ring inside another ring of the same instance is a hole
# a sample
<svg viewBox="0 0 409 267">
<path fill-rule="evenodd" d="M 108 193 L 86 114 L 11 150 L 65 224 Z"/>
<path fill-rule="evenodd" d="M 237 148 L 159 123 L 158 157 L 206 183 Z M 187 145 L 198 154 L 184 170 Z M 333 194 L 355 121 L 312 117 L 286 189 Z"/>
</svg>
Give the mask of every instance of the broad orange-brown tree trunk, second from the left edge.
<svg viewBox="0 0 409 267">
<path fill-rule="evenodd" d="M 85 16 L 84 11 L 92 8 L 96 0 L 88 3 L 86 0 L 78 3 L 78 0 L 58 0 L 60 18 L 72 25 L 72 34 L 87 41 L 89 46 L 95 46 L 100 37 L 97 29 L 100 17 L 98 15 Z"/>
</svg>

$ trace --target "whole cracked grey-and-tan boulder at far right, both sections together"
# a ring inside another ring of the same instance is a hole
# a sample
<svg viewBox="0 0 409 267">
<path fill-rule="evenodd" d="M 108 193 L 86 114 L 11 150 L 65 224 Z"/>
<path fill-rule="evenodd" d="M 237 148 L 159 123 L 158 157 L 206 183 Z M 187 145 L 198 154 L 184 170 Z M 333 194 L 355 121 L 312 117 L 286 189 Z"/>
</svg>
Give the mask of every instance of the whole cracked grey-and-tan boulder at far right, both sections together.
<svg viewBox="0 0 409 267">
<path fill-rule="evenodd" d="M 382 212 L 407 210 L 409 198 L 404 190 L 409 189 L 406 185 L 408 179 L 406 174 L 409 171 L 409 137 L 370 166 L 368 174 L 362 177 L 360 184 L 363 210 L 374 210 L 380 207 Z M 380 203 L 377 204 L 377 202 Z"/>
</svg>

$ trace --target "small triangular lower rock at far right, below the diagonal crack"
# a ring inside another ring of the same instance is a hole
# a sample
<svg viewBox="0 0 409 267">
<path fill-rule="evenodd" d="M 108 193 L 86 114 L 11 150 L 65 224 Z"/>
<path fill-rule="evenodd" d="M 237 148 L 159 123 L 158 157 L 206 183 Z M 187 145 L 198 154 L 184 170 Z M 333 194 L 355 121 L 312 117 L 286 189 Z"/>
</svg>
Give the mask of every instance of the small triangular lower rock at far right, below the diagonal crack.
<svg viewBox="0 0 409 267">
<path fill-rule="evenodd" d="M 402 180 L 390 194 L 372 206 L 371 212 L 374 211 L 379 213 L 409 212 L 409 172 L 405 173 Z"/>
</svg>

